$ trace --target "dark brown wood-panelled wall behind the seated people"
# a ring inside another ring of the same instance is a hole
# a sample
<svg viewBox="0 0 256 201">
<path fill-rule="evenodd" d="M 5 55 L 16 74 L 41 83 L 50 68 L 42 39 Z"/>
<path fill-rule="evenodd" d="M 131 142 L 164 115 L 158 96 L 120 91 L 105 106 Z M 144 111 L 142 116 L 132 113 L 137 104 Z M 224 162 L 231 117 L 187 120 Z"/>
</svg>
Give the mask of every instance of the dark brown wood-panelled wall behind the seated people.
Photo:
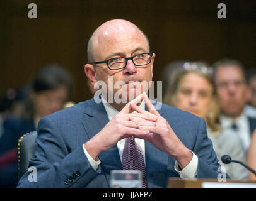
<svg viewBox="0 0 256 201">
<path fill-rule="evenodd" d="M 38 18 L 28 18 L 36 3 Z M 227 19 L 217 18 L 218 3 Z M 146 33 L 156 53 L 154 80 L 174 60 L 223 57 L 256 67 L 256 1 L 1 0 L 0 93 L 25 84 L 36 70 L 59 63 L 73 76 L 71 99 L 91 97 L 83 68 L 93 31 L 109 19 L 127 19 Z"/>
</svg>

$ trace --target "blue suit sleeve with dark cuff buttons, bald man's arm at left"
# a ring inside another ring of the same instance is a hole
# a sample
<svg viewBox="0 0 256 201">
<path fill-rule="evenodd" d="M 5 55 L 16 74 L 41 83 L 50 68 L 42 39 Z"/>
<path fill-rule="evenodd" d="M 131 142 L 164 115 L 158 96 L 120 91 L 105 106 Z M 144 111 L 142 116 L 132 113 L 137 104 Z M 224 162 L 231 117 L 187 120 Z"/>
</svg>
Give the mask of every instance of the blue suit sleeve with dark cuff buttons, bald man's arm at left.
<svg viewBox="0 0 256 201">
<path fill-rule="evenodd" d="M 84 154 L 83 142 L 69 151 L 49 117 L 40 120 L 36 143 L 35 157 L 29 161 L 32 171 L 21 177 L 18 188 L 84 188 L 100 174 L 100 166 L 95 171 Z"/>
</svg>

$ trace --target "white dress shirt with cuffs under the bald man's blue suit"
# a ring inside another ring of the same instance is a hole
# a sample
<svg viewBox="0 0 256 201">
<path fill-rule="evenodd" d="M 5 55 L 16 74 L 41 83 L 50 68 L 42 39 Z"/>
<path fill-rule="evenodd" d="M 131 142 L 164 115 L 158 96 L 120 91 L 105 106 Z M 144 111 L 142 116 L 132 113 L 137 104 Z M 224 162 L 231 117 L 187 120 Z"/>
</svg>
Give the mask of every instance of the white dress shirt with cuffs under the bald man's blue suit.
<svg viewBox="0 0 256 201">
<path fill-rule="evenodd" d="M 115 109 L 114 107 L 112 107 L 110 104 L 108 104 L 108 102 L 105 99 L 103 99 L 103 97 L 102 97 L 102 102 L 103 102 L 103 105 L 107 112 L 109 120 L 111 120 L 115 115 L 117 115 L 119 113 L 119 111 L 117 109 Z M 141 107 L 142 109 L 145 109 L 144 100 L 143 100 L 143 102 L 141 102 L 141 105 L 139 107 Z M 134 112 L 136 112 L 136 111 L 134 111 Z M 117 148 L 119 150 L 119 156 L 120 156 L 121 161 L 122 161 L 122 153 L 124 150 L 125 140 L 126 139 L 121 139 L 120 141 L 117 142 Z M 137 143 L 137 146 L 139 146 L 139 148 L 141 149 L 141 153 L 143 153 L 143 157 L 144 157 L 144 161 L 145 161 L 145 141 L 144 141 L 144 139 L 135 138 L 135 142 Z M 96 159 L 96 161 L 93 160 L 93 158 L 91 158 L 91 156 L 86 151 L 84 146 L 83 146 L 83 149 L 84 149 L 84 153 L 87 156 L 88 161 L 90 162 L 91 166 L 96 170 L 98 168 L 98 165 L 100 165 L 100 160 L 98 158 Z M 195 176 L 197 175 L 198 158 L 197 158 L 197 155 L 195 155 L 193 152 L 192 152 L 192 154 L 193 154 L 192 160 L 190 161 L 190 163 L 187 166 L 185 166 L 185 168 L 183 168 L 183 170 L 180 170 L 180 167 L 178 166 L 177 161 L 175 161 L 174 168 L 178 172 L 178 174 L 180 175 L 181 178 L 195 178 Z"/>
</svg>

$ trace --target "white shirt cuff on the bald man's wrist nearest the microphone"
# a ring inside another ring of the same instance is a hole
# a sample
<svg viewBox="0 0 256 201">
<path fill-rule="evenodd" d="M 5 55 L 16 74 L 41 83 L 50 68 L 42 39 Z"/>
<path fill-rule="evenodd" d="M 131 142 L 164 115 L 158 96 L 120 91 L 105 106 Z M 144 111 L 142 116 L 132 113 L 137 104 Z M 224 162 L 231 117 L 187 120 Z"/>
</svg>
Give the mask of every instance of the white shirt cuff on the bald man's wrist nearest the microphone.
<svg viewBox="0 0 256 201">
<path fill-rule="evenodd" d="M 178 162 L 175 161 L 174 169 L 177 171 L 177 173 L 180 175 L 180 178 L 195 178 L 197 175 L 197 166 L 198 166 L 198 158 L 197 155 L 191 151 L 193 156 L 190 163 L 183 168 L 183 170 L 180 169 L 180 166 L 178 166 Z"/>
</svg>

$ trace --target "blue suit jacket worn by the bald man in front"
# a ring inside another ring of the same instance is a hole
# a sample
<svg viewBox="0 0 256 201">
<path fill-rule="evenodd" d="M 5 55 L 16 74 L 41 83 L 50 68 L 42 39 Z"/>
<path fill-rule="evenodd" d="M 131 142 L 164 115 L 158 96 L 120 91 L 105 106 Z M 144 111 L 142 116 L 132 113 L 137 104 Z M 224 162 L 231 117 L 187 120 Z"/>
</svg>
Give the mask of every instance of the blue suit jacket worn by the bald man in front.
<svg viewBox="0 0 256 201">
<path fill-rule="evenodd" d="M 165 104 L 158 112 L 198 156 L 197 178 L 217 178 L 220 165 L 207 138 L 204 120 Z M 96 171 L 82 146 L 108 121 L 103 104 L 93 99 L 42 118 L 35 158 L 30 160 L 30 166 L 37 168 L 37 182 L 28 182 L 30 172 L 26 172 L 18 188 L 109 188 L 110 171 L 122 169 L 117 145 L 100 153 L 101 164 Z M 168 177 L 179 177 L 174 170 L 175 159 L 147 141 L 145 155 L 148 188 L 165 188 Z"/>
</svg>

